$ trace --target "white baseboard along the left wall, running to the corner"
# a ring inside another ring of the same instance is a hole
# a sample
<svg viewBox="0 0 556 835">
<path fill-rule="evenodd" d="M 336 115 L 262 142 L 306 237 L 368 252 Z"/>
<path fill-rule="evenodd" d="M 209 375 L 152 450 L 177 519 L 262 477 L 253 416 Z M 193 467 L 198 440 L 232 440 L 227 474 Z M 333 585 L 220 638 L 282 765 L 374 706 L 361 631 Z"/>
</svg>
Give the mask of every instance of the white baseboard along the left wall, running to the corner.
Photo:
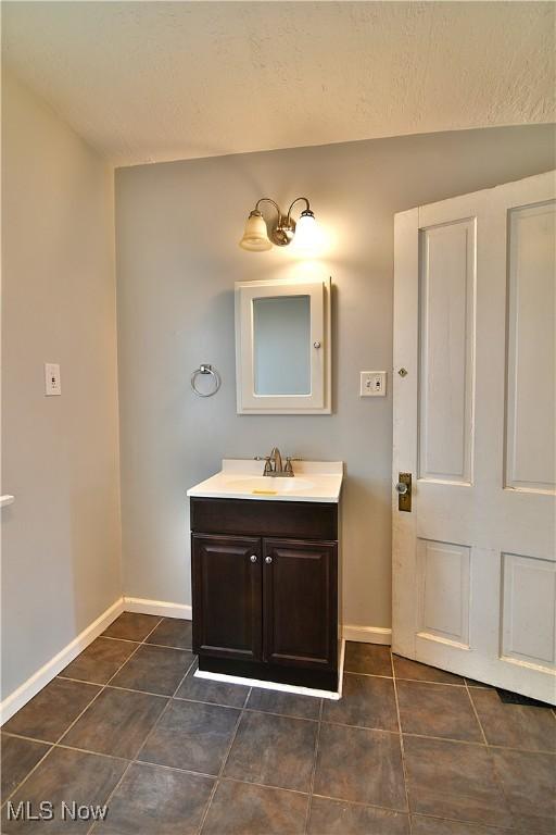
<svg viewBox="0 0 556 835">
<path fill-rule="evenodd" d="M 112 621 L 124 611 L 124 598 L 118 598 L 109 607 L 96 621 L 77 635 L 70 644 L 58 652 L 50 661 L 47 661 L 40 670 L 37 670 L 26 682 L 21 684 L 16 690 L 7 696 L 0 703 L 0 725 L 13 716 L 24 705 L 26 705 L 39 690 L 54 678 L 64 666 L 76 658 L 79 652 L 91 644 L 94 638 L 110 626 Z"/>
</svg>

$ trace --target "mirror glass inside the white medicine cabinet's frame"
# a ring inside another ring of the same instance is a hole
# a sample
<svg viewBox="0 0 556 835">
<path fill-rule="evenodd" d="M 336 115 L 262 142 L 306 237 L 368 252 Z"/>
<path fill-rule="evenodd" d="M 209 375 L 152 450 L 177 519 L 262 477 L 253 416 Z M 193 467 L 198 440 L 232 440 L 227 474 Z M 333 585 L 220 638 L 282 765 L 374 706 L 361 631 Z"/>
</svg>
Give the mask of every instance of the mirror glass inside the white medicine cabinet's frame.
<svg viewBox="0 0 556 835">
<path fill-rule="evenodd" d="M 255 395 L 311 394 L 311 299 L 253 299 Z"/>
</svg>

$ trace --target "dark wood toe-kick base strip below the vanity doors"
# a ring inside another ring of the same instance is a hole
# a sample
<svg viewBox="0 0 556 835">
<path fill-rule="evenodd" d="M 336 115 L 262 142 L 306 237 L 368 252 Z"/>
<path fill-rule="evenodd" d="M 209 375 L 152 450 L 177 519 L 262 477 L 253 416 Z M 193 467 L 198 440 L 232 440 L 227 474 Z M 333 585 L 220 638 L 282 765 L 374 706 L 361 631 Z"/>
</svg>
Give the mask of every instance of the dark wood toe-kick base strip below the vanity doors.
<svg viewBox="0 0 556 835">
<path fill-rule="evenodd" d="M 292 684 L 296 687 L 311 687 L 316 690 L 338 690 L 338 672 L 326 670 L 304 670 L 281 666 L 280 664 L 235 661 L 227 658 L 199 657 L 199 669 L 208 673 L 239 675 L 242 678 L 258 678 L 262 682 Z"/>
</svg>

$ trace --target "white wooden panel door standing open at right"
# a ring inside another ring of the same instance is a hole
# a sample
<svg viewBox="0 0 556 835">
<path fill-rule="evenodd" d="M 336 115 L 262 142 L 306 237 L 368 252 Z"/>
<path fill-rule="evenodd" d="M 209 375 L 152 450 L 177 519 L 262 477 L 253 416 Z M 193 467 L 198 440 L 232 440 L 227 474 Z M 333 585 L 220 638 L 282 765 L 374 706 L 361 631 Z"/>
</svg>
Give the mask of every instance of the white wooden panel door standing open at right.
<svg viewBox="0 0 556 835">
<path fill-rule="evenodd" d="M 556 703 L 555 172 L 394 228 L 393 649 Z"/>
</svg>

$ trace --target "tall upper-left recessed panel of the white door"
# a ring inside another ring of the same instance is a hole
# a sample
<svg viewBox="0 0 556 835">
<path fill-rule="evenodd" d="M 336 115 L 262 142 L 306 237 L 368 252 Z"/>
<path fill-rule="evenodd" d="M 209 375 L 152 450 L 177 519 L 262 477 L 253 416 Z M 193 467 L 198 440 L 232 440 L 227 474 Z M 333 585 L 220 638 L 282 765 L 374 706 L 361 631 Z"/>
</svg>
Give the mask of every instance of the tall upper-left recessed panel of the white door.
<svg viewBox="0 0 556 835">
<path fill-rule="evenodd" d="M 419 478 L 470 484 L 475 219 L 421 229 L 419 246 Z"/>
</svg>

